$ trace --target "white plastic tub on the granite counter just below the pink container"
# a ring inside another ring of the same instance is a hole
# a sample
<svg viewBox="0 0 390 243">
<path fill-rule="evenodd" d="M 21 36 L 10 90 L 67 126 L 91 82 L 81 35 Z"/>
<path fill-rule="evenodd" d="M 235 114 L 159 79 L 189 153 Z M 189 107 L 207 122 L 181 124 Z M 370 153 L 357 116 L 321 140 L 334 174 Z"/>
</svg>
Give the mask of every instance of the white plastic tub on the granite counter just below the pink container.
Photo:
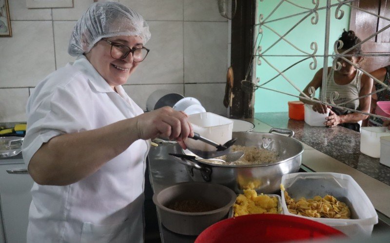
<svg viewBox="0 0 390 243">
<path fill-rule="evenodd" d="M 381 155 L 380 138 L 390 136 L 387 127 L 362 127 L 360 130 L 360 152 L 379 158 Z"/>
</svg>

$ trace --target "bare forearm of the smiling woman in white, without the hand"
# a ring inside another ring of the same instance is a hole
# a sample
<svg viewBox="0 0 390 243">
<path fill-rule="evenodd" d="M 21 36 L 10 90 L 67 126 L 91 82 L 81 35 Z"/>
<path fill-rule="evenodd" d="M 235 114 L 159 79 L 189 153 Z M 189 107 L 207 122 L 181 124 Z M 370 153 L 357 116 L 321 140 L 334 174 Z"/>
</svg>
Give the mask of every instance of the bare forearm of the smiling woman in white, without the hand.
<svg viewBox="0 0 390 243">
<path fill-rule="evenodd" d="M 60 135 L 39 148 L 31 158 L 28 170 L 38 184 L 69 185 L 98 171 L 139 139 L 137 136 L 135 118 Z"/>
</svg>

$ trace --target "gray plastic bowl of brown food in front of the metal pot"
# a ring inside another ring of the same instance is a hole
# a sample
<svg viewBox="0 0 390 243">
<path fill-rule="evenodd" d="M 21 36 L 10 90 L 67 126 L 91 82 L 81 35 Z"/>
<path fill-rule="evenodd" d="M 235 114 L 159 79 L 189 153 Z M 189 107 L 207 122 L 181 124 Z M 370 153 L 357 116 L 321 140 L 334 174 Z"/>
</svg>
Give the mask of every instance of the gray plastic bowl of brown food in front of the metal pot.
<svg viewBox="0 0 390 243">
<path fill-rule="evenodd" d="M 218 207 L 207 212 L 181 212 L 167 208 L 177 200 L 199 200 Z M 169 230 L 182 235 L 198 235 L 208 226 L 226 219 L 236 194 L 228 187 L 206 182 L 182 182 L 153 195 L 160 209 L 160 221 Z"/>
</svg>

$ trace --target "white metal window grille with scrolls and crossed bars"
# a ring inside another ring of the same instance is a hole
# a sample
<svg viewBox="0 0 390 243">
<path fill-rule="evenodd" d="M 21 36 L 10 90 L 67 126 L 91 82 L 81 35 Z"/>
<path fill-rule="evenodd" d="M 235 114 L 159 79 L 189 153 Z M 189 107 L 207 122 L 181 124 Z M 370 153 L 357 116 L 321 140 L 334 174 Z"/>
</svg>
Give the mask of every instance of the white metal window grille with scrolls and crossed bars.
<svg viewBox="0 0 390 243">
<path fill-rule="evenodd" d="M 264 0 L 260 0 L 260 1 L 264 1 Z M 350 110 L 351 112 L 358 112 L 358 113 L 370 115 L 370 116 L 373 116 L 373 117 L 378 117 L 378 118 L 381 118 L 381 119 L 384 119 L 384 120 L 390 120 L 390 118 L 387 118 L 387 117 L 378 116 L 378 115 L 375 115 L 375 114 L 370 114 L 370 113 L 366 113 L 366 112 L 362 112 L 362 111 L 359 111 L 359 110 L 354 110 L 354 109 L 350 109 L 350 108 L 346 108 L 346 107 L 342 106 L 343 104 L 347 104 L 347 103 L 350 103 L 352 101 L 358 100 L 360 98 L 363 98 L 363 97 L 366 97 L 366 96 L 370 96 L 370 95 L 372 95 L 374 93 L 377 93 L 377 92 L 380 92 L 380 91 L 382 91 L 384 89 L 390 90 L 390 87 L 388 85 L 386 85 L 382 81 L 376 79 L 369 72 L 367 72 L 366 70 L 364 70 L 361 67 L 359 67 L 359 65 L 356 65 L 356 64 L 352 63 L 350 60 L 348 60 L 346 58 L 346 57 L 349 57 L 349 56 L 354 56 L 353 54 L 346 54 L 346 53 L 350 52 L 351 50 L 357 48 L 360 45 L 363 45 L 368 40 L 370 40 L 370 38 L 372 38 L 373 36 L 376 36 L 376 35 L 380 34 L 381 32 L 385 31 L 386 29 L 390 28 L 390 19 L 387 18 L 387 17 L 384 17 L 384 16 L 377 15 L 375 13 L 370 13 L 370 12 L 364 10 L 364 9 L 361 9 L 359 7 L 356 7 L 356 6 L 352 5 L 352 2 L 355 1 L 355 0 L 337 0 L 337 2 L 333 3 L 333 4 L 331 3 L 331 0 L 326 0 L 326 6 L 324 5 L 323 7 L 319 7 L 320 0 L 308 0 L 308 1 L 312 2 L 312 4 L 313 4 L 312 8 L 301 6 L 301 5 L 297 4 L 297 3 L 295 3 L 293 0 L 280 0 L 278 2 L 278 4 L 275 6 L 275 8 L 270 12 L 270 14 L 268 14 L 268 16 L 264 17 L 264 15 L 261 13 L 261 10 L 259 11 L 260 12 L 259 15 L 258 15 L 259 21 L 258 21 L 258 23 L 256 23 L 254 25 L 254 33 L 256 35 L 254 43 L 255 43 L 255 45 L 257 45 L 254 48 L 254 53 L 253 53 L 253 56 L 252 56 L 252 63 L 254 63 L 254 65 L 253 66 L 250 65 L 251 67 L 249 67 L 249 69 L 248 69 L 248 72 L 247 72 L 247 75 L 245 77 L 245 80 L 242 81 L 242 86 L 241 86 L 242 89 L 244 89 L 244 90 L 246 89 L 247 91 L 251 90 L 253 92 L 257 88 L 268 89 L 268 90 L 272 90 L 274 92 L 290 95 L 290 96 L 293 96 L 293 97 L 310 100 L 312 102 L 317 102 L 317 103 L 321 103 L 321 104 L 327 104 L 327 105 L 330 105 L 332 107 L 343 108 L 343 109 L 346 109 L 346 110 Z M 272 17 L 275 15 L 275 13 L 277 13 L 279 7 L 282 4 L 291 4 L 291 5 L 295 6 L 295 7 L 297 7 L 298 9 L 301 9 L 301 12 L 300 13 L 294 13 L 292 15 L 288 15 L 288 16 L 285 16 L 285 17 L 272 19 Z M 331 8 L 336 8 L 335 9 L 334 18 L 341 19 L 341 18 L 344 17 L 344 11 L 341 9 L 342 6 L 348 6 L 349 8 L 355 8 L 357 10 L 366 12 L 366 13 L 368 13 L 370 15 L 373 15 L 373 16 L 376 16 L 376 17 L 388 20 L 389 21 L 388 25 L 386 25 L 383 28 L 379 29 L 378 31 L 376 31 L 375 33 L 370 35 L 369 37 L 363 39 L 360 43 L 358 43 L 357 45 L 351 47 L 350 49 L 345 50 L 345 51 L 343 50 L 343 52 L 339 52 L 339 50 L 343 46 L 343 43 L 342 43 L 342 41 L 337 40 L 334 43 L 334 45 L 333 45 L 333 53 L 330 54 L 329 53 L 329 43 L 330 43 L 329 35 L 330 35 L 330 28 L 331 28 L 330 22 L 331 22 L 331 18 L 333 17 L 333 16 L 331 16 Z M 312 51 L 305 51 L 305 50 L 302 50 L 302 49 L 298 48 L 296 45 L 294 45 L 292 43 L 292 41 L 289 41 L 289 36 L 288 36 L 288 34 L 293 29 L 295 29 L 299 24 L 302 23 L 303 20 L 305 20 L 305 19 L 307 19 L 309 17 L 311 17 L 311 24 L 312 25 L 316 25 L 318 23 L 318 19 L 319 19 L 319 15 L 318 15 L 319 11 L 325 11 L 325 16 L 326 16 L 325 30 L 324 30 L 324 32 L 325 32 L 325 44 L 324 44 L 324 47 L 323 47 L 324 48 L 324 54 L 323 55 L 318 55 L 317 54 L 318 45 L 317 45 L 317 42 L 315 40 L 313 40 L 312 43 L 310 44 L 310 47 L 308 47 Z M 288 31 L 286 31 L 284 33 L 281 33 L 280 30 L 273 29 L 269 25 L 269 23 L 274 22 L 274 21 L 281 21 L 283 19 L 297 17 L 297 16 L 301 16 L 301 19 L 298 22 L 296 22 L 294 25 L 292 25 L 292 27 Z M 278 36 L 277 40 L 271 46 L 269 46 L 266 50 L 262 50 L 261 41 L 260 41 L 259 44 L 257 44 L 258 38 L 260 37 L 260 40 L 261 40 L 261 38 L 263 37 L 263 28 L 266 28 L 266 29 L 270 30 L 273 34 Z M 284 42 L 288 43 L 291 46 L 291 48 L 297 50 L 301 54 L 292 54 L 292 55 L 289 55 L 288 53 L 287 54 L 283 54 L 283 55 L 273 55 L 273 54 L 270 54 L 270 52 L 272 52 L 273 46 L 276 45 L 279 41 L 284 41 Z M 337 48 L 337 44 L 338 43 L 340 44 L 339 48 Z M 270 56 L 280 56 L 281 58 L 282 57 L 287 57 L 287 56 L 295 56 L 295 57 L 300 57 L 300 60 L 298 60 L 297 62 L 293 63 L 287 69 L 279 70 L 276 67 L 277 64 L 272 63 L 268 59 L 268 57 L 270 57 Z M 390 56 L 390 52 L 386 52 L 386 53 L 383 53 L 383 52 L 382 53 L 363 52 L 363 53 L 359 54 L 358 56 Z M 322 87 L 321 87 L 321 100 L 317 101 L 317 100 L 314 100 L 314 96 L 315 96 L 315 88 L 314 87 L 310 87 L 309 88 L 310 96 L 308 96 L 308 95 L 304 94 L 302 92 L 302 90 L 300 90 L 294 84 L 294 82 L 291 79 L 289 79 L 289 77 L 285 73 L 286 73 L 287 70 L 293 69 L 298 63 L 301 63 L 301 62 L 303 62 L 305 60 L 308 60 L 308 59 L 312 59 L 312 62 L 310 63 L 308 68 L 314 70 L 314 69 L 317 68 L 317 65 L 318 65 L 317 58 L 319 58 L 319 57 L 323 58 L 323 75 L 322 75 Z M 370 76 L 374 80 L 373 85 L 375 85 L 375 83 L 379 83 L 379 84 L 382 85 L 382 88 L 378 89 L 378 90 L 375 90 L 374 92 L 371 92 L 371 93 L 369 93 L 369 94 L 367 94 L 365 96 L 361 96 L 361 97 L 358 97 L 356 99 L 349 100 L 349 101 L 346 101 L 346 102 L 343 102 L 343 103 L 340 103 L 340 104 L 335 104 L 334 100 L 336 100 L 338 98 L 338 96 L 339 96 L 337 91 L 331 92 L 330 97 L 326 97 L 328 66 L 329 66 L 328 65 L 328 61 L 329 61 L 330 58 L 333 58 L 332 67 L 331 67 L 332 69 L 340 70 L 341 64 L 340 64 L 339 61 L 340 61 L 340 59 L 342 59 L 345 62 L 348 62 L 351 65 L 353 65 L 356 69 L 359 69 L 363 73 L 365 73 L 366 75 Z M 254 60 L 255 60 L 255 62 L 253 62 Z M 247 81 L 246 79 L 248 77 L 250 69 L 254 70 L 256 68 L 255 67 L 256 65 L 262 65 L 263 62 L 265 62 L 267 65 L 269 65 L 278 74 L 276 76 L 274 76 L 273 78 L 271 78 L 269 80 L 266 80 L 265 82 L 262 82 L 262 83 L 260 83 L 259 77 L 256 77 L 252 81 Z M 273 80 L 275 80 L 275 78 L 277 78 L 279 76 L 283 77 L 283 79 L 285 79 L 288 83 L 290 83 L 290 85 L 292 87 L 294 87 L 294 89 L 299 91 L 299 94 L 301 96 L 294 95 L 294 94 L 287 93 L 287 92 L 282 92 L 280 90 L 273 89 L 273 88 L 264 87 L 266 84 L 272 82 Z M 329 102 L 327 100 L 329 100 Z"/>
</svg>

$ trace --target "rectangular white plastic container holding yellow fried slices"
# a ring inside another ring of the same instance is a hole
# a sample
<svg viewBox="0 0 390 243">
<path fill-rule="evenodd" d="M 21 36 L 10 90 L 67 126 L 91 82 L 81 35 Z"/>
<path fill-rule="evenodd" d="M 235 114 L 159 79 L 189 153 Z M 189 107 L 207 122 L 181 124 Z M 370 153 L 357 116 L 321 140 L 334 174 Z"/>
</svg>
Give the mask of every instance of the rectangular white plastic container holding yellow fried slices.
<svg viewBox="0 0 390 243">
<path fill-rule="evenodd" d="M 282 176 L 282 185 L 293 199 L 329 194 L 344 202 L 351 210 L 351 219 L 312 218 L 289 212 L 282 192 L 283 213 L 311 219 L 331 226 L 348 236 L 371 235 L 372 228 L 378 223 L 378 214 L 362 188 L 348 174 L 338 173 L 292 173 Z"/>
</svg>

